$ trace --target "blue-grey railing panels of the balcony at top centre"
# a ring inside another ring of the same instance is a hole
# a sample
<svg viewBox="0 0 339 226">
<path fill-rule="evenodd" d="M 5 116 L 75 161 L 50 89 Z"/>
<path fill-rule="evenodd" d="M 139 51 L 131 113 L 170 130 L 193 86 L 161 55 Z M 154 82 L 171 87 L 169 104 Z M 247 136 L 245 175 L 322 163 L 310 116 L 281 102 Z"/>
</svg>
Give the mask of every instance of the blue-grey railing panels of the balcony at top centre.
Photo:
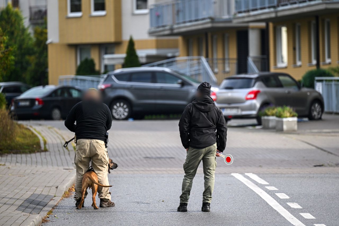
<svg viewBox="0 0 339 226">
<path fill-rule="evenodd" d="M 152 29 L 207 19 L 226 19 L 232 14 L 232 0 L 175 0 L 153 5 L 150 23 Z"/>
</svg>

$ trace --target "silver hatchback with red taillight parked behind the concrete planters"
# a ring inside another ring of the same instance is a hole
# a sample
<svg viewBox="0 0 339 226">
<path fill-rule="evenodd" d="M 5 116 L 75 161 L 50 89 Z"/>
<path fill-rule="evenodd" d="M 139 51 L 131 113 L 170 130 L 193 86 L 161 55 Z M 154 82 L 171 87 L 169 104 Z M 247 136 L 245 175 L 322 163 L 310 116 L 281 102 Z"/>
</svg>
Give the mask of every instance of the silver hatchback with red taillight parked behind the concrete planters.
<svg viewBox="0 0 339 226">
<path fill-rule="evenodd" d="M 302 88 L 285 73 L 263 72 L 227 77 L 212 97 L 226 120 L 256 118 L 259 125 L 259 111 L 269 105 L 290 106 L 299 116 L 309 119 L 321 119 L 324 109 L 324 100 L 319 92 Z"/>
</svg>

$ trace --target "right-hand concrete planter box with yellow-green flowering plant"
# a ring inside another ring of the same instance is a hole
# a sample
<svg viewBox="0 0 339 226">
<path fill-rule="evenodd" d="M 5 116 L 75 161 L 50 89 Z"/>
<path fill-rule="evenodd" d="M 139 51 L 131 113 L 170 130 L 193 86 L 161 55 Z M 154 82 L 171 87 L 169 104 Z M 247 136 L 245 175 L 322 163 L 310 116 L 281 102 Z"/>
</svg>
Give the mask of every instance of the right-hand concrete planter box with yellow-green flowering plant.
<svg viewBox="0 0 339 226">
<path fill-rule="evenodd" d="M 298 128 L 298 114 L 290 107 L 278 107 L 276 112 L 276 130 L 296 131 Z"/>
</svg>

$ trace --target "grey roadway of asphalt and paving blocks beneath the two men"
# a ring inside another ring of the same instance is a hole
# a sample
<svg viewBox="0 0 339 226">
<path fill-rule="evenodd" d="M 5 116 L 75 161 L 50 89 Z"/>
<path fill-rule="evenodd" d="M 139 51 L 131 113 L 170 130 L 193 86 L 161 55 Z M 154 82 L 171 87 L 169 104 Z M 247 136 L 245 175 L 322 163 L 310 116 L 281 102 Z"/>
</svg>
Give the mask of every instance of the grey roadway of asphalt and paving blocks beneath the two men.
<svg viewBox="0 0 339 226">
<path fill-rule="evenodd" d="M 176 211 L 185 158 L 177 120 L 114 121 L 108 152 L 119 164 L 109 175 L 116 206 L 94 210 L 89 196 L 85 207 L 76 210 L 75 201 L 66 198 L 43 226 L 338 226 L 339 157 L 334 154 L 338 152 L 339 136 L 328 132 L 335 130 L 334 118 L 326 119 L 328 127 L 310 122 L 315 126 L 292 134 L 230 123 L 226 152 L 232 153 L 235 161 L 227 166 L 222 159 L 217 160 L 211 212 L 201 212 L 201 167 L 188 212 Z M 63 121 L 40 123 L 65 130 Z"/>
</svg>

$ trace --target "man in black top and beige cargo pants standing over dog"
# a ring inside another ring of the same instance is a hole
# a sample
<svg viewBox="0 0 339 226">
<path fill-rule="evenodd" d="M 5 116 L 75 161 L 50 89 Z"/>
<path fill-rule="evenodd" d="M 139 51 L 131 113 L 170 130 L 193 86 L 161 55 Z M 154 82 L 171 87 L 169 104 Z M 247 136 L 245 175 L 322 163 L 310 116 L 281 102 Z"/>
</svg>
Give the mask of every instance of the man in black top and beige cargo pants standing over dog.
<svg viewBox="0 0 339 226">
<path fill-rule="evenodd" d="M 76 125 L 74 122 L 76 121 Z M 76 165 L 75 206 L 81 199 L 82 177 L 87 172 L 92 160 L 94 172 L 98 175 L 98 182 L 108 183 L 108 154 L 105 148 L 105 135 L 112 126 L 112 115 L 107 105 L 101 102 L 100 93 L 89 89 L 84 100 L 76 104 L 68 113 L 65 126 L 77 136 L 77 145 L 74 163 Z M 114 206 L 108 187 L 98 186 L 100 207 Z"/>
</svg>

